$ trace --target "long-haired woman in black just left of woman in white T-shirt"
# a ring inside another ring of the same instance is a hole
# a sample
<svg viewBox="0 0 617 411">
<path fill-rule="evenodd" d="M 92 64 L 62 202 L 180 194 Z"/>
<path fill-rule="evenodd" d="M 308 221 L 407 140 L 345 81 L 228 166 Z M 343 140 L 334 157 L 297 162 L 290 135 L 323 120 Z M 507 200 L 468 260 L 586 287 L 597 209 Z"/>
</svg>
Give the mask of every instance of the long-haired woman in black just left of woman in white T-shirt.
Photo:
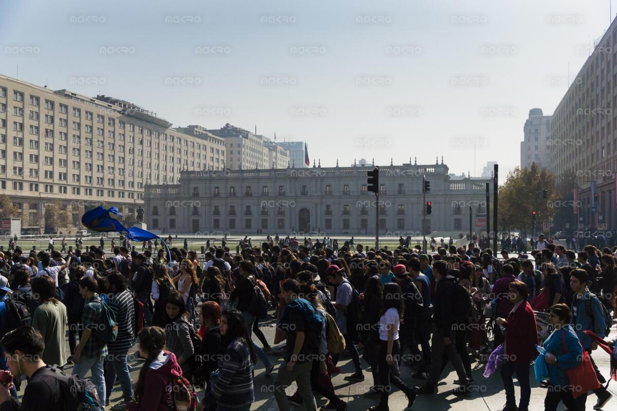
<svg viewBox="0 0 617 411">
<path fill-rule="evenodd" d="M 366 397 L 379 397 L 379 316 L 381 311 L 381 293 L 383 284 L 376 276 L 371 276 L 366 280 L 362 308 L 364 311 L 364 323 L 360 341 L 364 346 L 363 359 L 371 366 L 374 385 L 368 389 Z"/>
</svg>

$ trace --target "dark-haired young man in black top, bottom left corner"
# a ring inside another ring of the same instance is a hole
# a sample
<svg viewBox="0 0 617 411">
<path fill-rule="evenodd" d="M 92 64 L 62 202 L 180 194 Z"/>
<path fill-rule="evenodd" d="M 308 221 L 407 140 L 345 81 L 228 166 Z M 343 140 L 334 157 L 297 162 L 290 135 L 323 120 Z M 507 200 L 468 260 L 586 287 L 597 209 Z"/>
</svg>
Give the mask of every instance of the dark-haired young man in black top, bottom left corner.
<svg viewBox="0 0 617 411">
<path fill-rule="evenodd" d="M 32 327 L 20 327 L 2 338 L 2 348 L 14 380 L 28 379 L 22 404 L 10 396 L 9 384 L 0 383 L 0 411 L 62 411 L 65 399 L 58 376 L 43 358 L 43 336 Z"/>
</svg>

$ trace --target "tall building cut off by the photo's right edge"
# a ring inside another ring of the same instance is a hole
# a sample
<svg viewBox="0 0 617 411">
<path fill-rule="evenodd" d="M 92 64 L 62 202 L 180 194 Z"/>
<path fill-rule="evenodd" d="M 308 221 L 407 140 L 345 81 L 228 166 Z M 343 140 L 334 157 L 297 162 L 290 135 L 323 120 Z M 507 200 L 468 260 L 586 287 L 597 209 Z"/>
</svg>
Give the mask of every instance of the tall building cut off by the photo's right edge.
<svg viewBox="0 0 617 411">
<path fill-rule="evenodd" d="M 617 19 L 576 74 L 552 116 L 557 181 L 576 178 L 579 228 L 616 228 Z"/>
</svg>

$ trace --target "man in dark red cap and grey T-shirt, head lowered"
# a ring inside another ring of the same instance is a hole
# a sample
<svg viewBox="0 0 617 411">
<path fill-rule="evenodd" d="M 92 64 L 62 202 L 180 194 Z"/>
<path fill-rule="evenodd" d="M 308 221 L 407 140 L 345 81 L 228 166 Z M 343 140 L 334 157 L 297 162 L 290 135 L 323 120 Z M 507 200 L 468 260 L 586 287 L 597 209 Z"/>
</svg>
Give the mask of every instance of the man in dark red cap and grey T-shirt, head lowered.
<svg viewBox="0 0 617 411">
<path fill-rule="evenodd" d="M 330 265 L 326 269 L 326 278 L 328 278 L 329 283 L 337 286 L 336 301 L 333 301 L 334 307 L 336 308 L 336 325 L 339 327 L 341 334 L 343 334 L 345 346 L 349 350 L 352 360 L 354 360 L 355 372 L 352 375 L 347 375 L 344 379 L 346 381 L 360 382 L 364 381 L 364 374 L 362 373 L 362 365 L 360 365 L 360 355 L 355 346 L 358 318 L 347 311 L 347 307 L 349 307 L 350 304 L 355 304 L 355 302 L 352 301 L 354 298 L 354 289 L 343 274 L 344 269 L 339 268 L 337 265 Z M 336 366 L 339 357 L 340 354 L 334 354 L 332 356 L 334 366 Z"/>
</svg>

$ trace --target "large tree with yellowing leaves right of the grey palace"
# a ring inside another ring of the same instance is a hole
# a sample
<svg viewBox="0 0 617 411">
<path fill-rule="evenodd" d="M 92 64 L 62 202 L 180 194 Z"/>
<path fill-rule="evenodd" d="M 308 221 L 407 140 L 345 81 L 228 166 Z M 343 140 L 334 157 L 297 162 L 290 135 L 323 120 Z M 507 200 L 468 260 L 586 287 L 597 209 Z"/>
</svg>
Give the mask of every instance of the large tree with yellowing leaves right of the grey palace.
<svg viewBox="0 0 617 411">
<path fill-rule="evenodd" d="M 542 192 L 547 191 L 547 198 Z M 532 211 L 536 211 L 536 233 L 542 231 L 542 223 L 549 222 L 555 213 L 558 193 L 555 175 L 546 168 L 533 163 L 529 168 L 516 167 L 499 187 L 498 222 L 505 228 L 531 232 Z"/>
</svg>

